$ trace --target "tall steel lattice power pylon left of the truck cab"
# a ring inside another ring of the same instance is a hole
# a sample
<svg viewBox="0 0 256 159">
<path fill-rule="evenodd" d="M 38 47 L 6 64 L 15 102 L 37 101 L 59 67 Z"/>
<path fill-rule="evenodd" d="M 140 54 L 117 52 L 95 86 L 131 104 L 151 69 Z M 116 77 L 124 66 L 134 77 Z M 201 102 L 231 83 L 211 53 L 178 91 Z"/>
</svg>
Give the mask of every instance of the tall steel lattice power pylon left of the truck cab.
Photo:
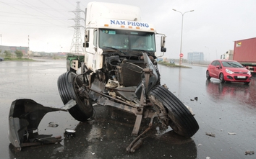
<svg viewBox="0 0 256 159">
<path fill-rule="evenodd" d="M 79 54 L 79 53 L 83 53 L 83 50 L 84 50 L 82 47 L 80 27 L 85 28 L 80 24 L 80 20 L 85 20 L 84 18 L 80 17 L 80 12 L 83 12 L 85 14 L 85 12 L 80 9 L 80 1 L 77 1 L 77 7 L 72 12 L 75 14 L 75 17 L 70 20 L 74 20 L 75 24 L 74 26 L 72 26 L 74 27 L 74 35 L 73 35 L 73 40 L 70 47 L 70 53 Z"/>
</svg>

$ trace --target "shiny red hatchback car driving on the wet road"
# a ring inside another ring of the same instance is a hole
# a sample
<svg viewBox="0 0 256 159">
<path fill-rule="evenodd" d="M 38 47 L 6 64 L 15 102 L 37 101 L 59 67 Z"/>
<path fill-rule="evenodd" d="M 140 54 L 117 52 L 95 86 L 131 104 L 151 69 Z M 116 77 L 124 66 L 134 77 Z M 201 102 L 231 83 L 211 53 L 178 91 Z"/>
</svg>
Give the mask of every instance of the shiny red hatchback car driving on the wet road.
<svg viewBox="0 0 256 159">
<path fill-rule="evenodd" d="M 213 60 L 213 62 L 208 65 L 206 78 L 208 80 L 210 80 L 210 78 L 218 78 L 221 83 L 230 81 L 249 84 L 252 75 L 247 68 L 244 68 L 243 65 L 235 60 Z"/>
</svg>

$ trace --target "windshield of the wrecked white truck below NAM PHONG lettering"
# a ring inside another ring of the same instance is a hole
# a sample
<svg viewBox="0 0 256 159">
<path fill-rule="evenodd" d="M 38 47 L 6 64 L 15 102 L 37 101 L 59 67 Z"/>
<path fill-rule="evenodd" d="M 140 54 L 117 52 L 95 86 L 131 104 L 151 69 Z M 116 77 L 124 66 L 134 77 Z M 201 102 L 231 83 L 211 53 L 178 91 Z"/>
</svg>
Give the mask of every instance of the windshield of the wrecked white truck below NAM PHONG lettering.
<svg viewBox="0 0 256 159">
<path fill-rule="evenodd" d="M 135 32 L 121 29 L 100 29 L 99 47 L 119 50 L 145 50 L 155 52 L 153 32 Z"/>
</svg>

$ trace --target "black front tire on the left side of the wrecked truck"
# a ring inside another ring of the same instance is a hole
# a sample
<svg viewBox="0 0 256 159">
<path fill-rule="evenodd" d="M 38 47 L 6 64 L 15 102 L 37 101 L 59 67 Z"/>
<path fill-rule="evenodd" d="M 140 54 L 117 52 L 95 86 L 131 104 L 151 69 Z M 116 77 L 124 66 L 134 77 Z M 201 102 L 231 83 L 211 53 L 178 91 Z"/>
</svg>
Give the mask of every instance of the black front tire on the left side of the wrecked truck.
<svg viewBox="0 0 256 159">
<path fill-rule="evenodd" d="M 58 89 L 64 104 L 67 104 L 71 99 L 77 101 L 77 105 L 69 109 L 69 113 L 74 119 L 82 122 L 93 116 L 93 105 L 90 99 L 86 99 L 77 94 L 79 86 L 82 86 L 82 80 L 75 78 L 76 76 L 77 75 L 71 71 L 63 73 L 58 78 Z M 76 79 L 75 82 L 74 79 Z"/>
</svg>

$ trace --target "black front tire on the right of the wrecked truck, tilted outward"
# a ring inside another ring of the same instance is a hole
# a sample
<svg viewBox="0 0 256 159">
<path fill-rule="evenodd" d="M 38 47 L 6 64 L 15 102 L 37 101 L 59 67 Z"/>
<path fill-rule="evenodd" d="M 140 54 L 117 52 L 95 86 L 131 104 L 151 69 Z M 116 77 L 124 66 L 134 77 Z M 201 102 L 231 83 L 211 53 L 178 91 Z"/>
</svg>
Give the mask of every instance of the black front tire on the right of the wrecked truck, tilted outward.
<svg viewBox="0 0 256 159">
<path fill-rule="evenodd" d="M 148 93 L 151 103 L 160 112 L 168 114 L 168 125 L 179 135 L 192 137 L 199 125 L 187 106 L 163 86 L 156 86 Z"/>
</svg>

